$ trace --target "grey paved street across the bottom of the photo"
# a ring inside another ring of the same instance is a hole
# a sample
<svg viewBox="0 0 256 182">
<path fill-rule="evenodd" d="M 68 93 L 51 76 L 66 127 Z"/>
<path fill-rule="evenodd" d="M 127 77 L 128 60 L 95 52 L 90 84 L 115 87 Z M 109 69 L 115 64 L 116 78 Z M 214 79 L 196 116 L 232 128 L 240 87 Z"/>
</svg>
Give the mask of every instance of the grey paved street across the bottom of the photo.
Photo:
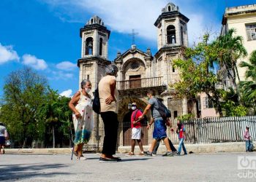
<svg viewBox="0 0 256 182">
<path fill-rule="evenodd" d="M 5 154 L 0 181 L 256 181 L 238 177 L 238 157 L 255 153 L 118 156 L 122 162 L 100 163 L 99 154 L 86 154 L 86 161 L 71 161 L 67 154 Z"/>
</svg>

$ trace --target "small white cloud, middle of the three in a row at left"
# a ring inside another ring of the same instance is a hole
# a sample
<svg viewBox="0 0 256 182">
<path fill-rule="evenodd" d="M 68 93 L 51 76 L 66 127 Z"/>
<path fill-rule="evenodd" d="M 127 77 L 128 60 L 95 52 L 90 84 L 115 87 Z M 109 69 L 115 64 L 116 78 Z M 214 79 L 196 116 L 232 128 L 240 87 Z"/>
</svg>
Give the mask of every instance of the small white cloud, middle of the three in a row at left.
<svg viewBox="0 0 256 182">
<path fill-rule="evenodd" d="M 24 65 L 31 66 L 32 68 L 34 68 L 36 70 L 45 70 L 48 67 L 45 60 L 38 59 L 34 55 L 26 54 L 26 55 L 23 55 L 22 58 L 23 58 L 22 63 Z"/>
</svg>

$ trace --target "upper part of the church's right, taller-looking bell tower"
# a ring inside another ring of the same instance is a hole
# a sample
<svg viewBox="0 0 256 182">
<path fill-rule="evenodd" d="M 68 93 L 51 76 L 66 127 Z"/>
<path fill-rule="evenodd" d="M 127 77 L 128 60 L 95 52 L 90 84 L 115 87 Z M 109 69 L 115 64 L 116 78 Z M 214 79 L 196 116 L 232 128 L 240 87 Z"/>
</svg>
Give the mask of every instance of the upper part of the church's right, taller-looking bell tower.
<svg viewBox="0 0 256 182">
<path fill-rule="evenodd" d="M 168 3 L 154 25 L 157 27 L 157 48 L 155 55 L 158 76 L 166 85 L 177 82 L 178 70 L 173 67 L 174 59 L 179 58 L 182 47 L 188 46 L 187 23 L 189 18 L 179 12 L 178 6 Z"/>
</svg>

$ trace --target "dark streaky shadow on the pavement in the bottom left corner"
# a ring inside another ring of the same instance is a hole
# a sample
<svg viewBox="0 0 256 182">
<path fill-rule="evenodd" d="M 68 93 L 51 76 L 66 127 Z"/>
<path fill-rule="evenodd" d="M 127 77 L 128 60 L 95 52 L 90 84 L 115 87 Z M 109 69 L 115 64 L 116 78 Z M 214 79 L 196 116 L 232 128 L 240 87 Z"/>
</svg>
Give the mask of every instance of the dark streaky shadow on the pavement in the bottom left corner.
<svg viewBox="0 0 256 182">
<path fill-rule="evenodd" d="M 70 173 L 42 172 L 45 169 L 69 167 L 69 165 L 53 164 L 42 165 L 40 163 L 22 164 L 22 165 L 0 165 L 0 181 L 6 180 L 23 180 L 26 178 L 34 178 L 37 176 L 51 177 L 55 175 L 63 175 Z"/>
</svg>

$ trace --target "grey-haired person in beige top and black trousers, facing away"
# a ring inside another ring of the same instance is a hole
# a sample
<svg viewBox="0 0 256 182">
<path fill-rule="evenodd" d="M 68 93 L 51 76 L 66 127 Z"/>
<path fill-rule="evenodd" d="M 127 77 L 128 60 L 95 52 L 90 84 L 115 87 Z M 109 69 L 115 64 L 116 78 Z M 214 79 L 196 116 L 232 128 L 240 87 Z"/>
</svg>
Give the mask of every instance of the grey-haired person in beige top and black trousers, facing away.
<svg viewBox="0 0 256 182">
<path fill-rule="evenodd" d="M 117 131 L 118 131 L 118 91 L 116 89 L 116 76 L 118 68 L 110 64 L 105 68 L 106 76 L 99 81 L 100 116 L 104 123 L 104 141 L 102 154 L 99 162 L 118 162 L 116 154 Z"/>
</svg>

